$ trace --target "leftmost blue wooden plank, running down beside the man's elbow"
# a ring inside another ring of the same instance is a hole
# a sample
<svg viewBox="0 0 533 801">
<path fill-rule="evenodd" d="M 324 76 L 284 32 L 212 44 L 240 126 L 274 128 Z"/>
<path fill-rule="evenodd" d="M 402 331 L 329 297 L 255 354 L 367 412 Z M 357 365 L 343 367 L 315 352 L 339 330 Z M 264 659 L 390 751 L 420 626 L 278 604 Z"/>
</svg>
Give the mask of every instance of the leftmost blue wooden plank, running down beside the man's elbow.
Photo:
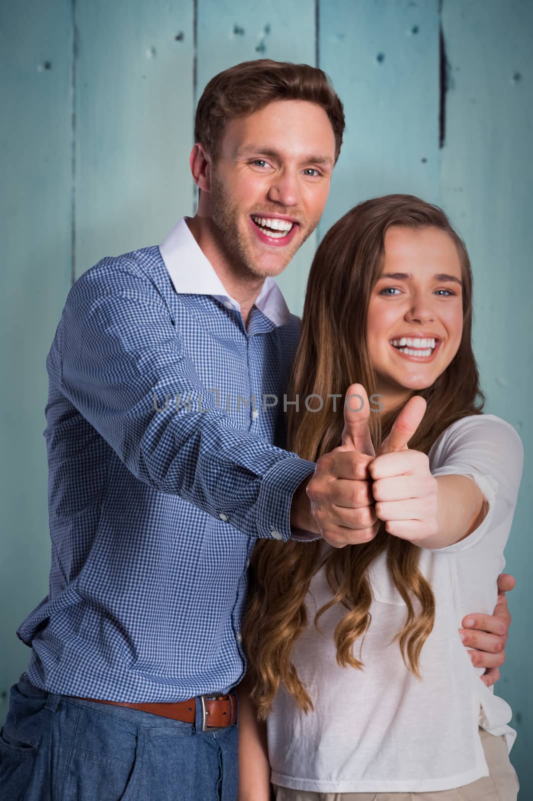
<svg viewBox="0 0 533 801">
<path fill-rule="evenodd" d="M 48 587 L 45 360 L 70 289 L 71 63 L 70 0 L 2 4 L 0 720 L 30 658 L 15 630 Z"/>
</svg>

